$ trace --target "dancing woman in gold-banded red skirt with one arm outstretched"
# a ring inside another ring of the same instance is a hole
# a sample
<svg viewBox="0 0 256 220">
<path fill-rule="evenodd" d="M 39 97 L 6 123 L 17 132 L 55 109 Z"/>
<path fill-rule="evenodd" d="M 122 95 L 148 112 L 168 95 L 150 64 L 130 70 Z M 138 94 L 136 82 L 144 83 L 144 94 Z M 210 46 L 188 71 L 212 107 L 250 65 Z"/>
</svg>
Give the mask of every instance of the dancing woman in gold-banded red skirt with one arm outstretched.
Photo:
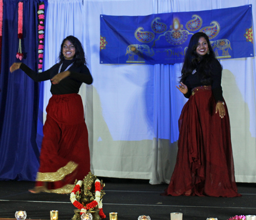
<svg viewBox="0 0 256 220">
<path fill-rule="evenodd" d="M 81 42 L 68 36 L 61 43 L 59 63 L 37 74 L 24 63 L 13 63 L 10 71 L 23 70 L 34 81 L 51 80 L 52 97 L 46 108 L 44 138 L 36 185 L 29 190 L 70 193 L 76 179 L 90 172 L 88 130 L 78 95 L 81 84 L 93 78 L 86 66 Z"/>
</svg>

